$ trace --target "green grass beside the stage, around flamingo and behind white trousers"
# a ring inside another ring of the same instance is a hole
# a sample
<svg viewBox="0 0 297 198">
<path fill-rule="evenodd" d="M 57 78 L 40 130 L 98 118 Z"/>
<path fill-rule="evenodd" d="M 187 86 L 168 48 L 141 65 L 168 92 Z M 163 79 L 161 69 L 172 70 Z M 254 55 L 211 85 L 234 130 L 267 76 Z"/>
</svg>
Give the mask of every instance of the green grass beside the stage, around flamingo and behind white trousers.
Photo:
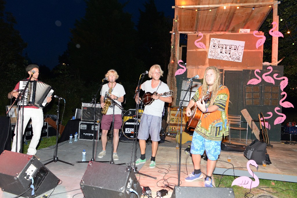
<svg viewBox="0 0 297 198">
<path fill-rule="evenodd" d="M 30 141 L 27 142 L 28 144 L 23 144 L 23 153 L 27 153 Z M 42 137 L 39 145 L 37 146 L 38 149 L 46 148 L 48 146 L 52 146 L 56 144 L 56 136 L 52 137 Z M 222 177 L 222 180 L 221 180 Z M 231 186 L 234 177 L 229 175 L 214 175 L 216 187 L 226 187 L 226 188 L 233 188 L 234 194 L 236 198 L 239 197 L 279 197 L 279 198 L 288 198 L 288 197 L 296 197 L 297 193 L 295 192 L 297 189 L 297 183 L 293 182 L 284 182 L 284 181 L 274 181 L 274 180 L 265 180 L 260 179 L 260 184 L 256 188 L 252 188 L 250 191 L 249 189 L 242 188 L 240 186 Z M 221 181 L 220 181 L 221 180 Z M 219 186 L 218 186 L 219 185 Z M 293 190 L 295 189 L 295 190 Z M 248 194 L 247 194 L 248 193 Z M 246 194 L 246 195 L 245 195 Z"/>
</svg>

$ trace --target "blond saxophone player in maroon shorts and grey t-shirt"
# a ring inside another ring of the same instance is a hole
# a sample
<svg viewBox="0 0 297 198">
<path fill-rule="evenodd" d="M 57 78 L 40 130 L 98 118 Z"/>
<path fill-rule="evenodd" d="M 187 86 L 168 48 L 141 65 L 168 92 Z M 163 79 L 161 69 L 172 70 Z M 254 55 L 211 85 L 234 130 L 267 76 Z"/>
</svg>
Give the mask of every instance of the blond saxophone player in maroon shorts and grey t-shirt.
<svg viewBox="0 0 297 198">
<path fill-rule="evenodd" d="M 105 106 L 105 99 L 108 97 L 113 99 L 116 103 L 121 105 L 121 102 L 124 102 L 125 90 L 124 87 L 116 83 L 116 80 L 119 78 L 118 73 L 114 69 L 108 70 L 105 74 L 105 77 L 108 79 L 108 83 L 104 84 L 101 89 L 101 98 L 100 103 L 102 107 L 102 111 L 106 108 L 107 112 L 105 115 L 102 115 L 101 120 L 101 129 L 102 129 L 102 151 L 99 153 L 98 157 L 102 158 L 106 154 L 106 144 L 107 144 L 107 134 L 110 129 L 110 125 L 113 121 L 113 107 Z M 122 110 L 121 108 L 115 104 L 114 107 L 114 129 L 113 129 L 113 160 L 119 160 L 119 156 L 117 154 L 117 148 L 119 144 L 119 129 L 122 127 Z"/>
</svg>

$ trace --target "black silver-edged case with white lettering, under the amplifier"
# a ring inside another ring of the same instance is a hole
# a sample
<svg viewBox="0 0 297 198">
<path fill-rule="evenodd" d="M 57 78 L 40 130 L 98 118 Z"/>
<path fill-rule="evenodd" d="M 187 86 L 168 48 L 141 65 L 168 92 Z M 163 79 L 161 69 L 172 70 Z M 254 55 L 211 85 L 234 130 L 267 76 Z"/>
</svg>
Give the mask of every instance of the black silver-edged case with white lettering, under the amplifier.
<svg viewBox="0 0 297 198">
<path fill-rule="evenodd" d="M 95 123 L 95 140 L 99 139 L 98 129 L 100 129 L 100 123 Z M 78 138 L 84 140 L 93 140 L 94 136 L 94 121 L 93 122 L 79 122 Z"/>
</svg>

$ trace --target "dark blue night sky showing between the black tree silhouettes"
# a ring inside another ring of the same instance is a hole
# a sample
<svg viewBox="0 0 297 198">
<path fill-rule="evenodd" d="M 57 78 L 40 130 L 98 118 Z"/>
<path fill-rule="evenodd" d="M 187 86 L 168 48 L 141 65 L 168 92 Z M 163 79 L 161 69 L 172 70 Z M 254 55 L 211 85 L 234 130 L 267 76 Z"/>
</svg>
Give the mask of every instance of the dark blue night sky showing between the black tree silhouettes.
<svg viewBox="0 0 297 198">
<path fill-rule="evenodd" d="M 119 0 L 124 3 L 127 0 Z M 124 11 L 132 14 L 132 20 L 138 22 L 139 11 L 144 11 L 146 0 L 129 1 Z M 174 0 L 155 0 L 158 11 L 165 12 L 165 16 L 173 18 Z M 83 0 L 7 0 L 6 11 L 11 12 L 17 20 L 15 29 L 20 31 L 24 42 L 28 43 L 23 55 L 33 63 L 44 64 L 50 69 L 58 64 L 58 56 L 67 49 L 70 28 L 74 28 L 75 20 L 85 15 Z"/>
</svg>

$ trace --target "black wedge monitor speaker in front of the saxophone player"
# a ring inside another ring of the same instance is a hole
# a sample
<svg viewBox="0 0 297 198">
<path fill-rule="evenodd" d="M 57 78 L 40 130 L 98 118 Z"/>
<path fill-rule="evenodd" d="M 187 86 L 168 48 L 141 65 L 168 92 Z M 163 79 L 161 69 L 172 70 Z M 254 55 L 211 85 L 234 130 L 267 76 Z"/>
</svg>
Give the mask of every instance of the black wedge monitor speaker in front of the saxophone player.
<svg viewBox="0 0 297 198">
<path fill-rule="evenodd" d="M 133 189 L 141 196 L 142 189 L 132 167 L 90 161 L 80 182 L 85 198 L 134 198 Z"/>
</svg>

